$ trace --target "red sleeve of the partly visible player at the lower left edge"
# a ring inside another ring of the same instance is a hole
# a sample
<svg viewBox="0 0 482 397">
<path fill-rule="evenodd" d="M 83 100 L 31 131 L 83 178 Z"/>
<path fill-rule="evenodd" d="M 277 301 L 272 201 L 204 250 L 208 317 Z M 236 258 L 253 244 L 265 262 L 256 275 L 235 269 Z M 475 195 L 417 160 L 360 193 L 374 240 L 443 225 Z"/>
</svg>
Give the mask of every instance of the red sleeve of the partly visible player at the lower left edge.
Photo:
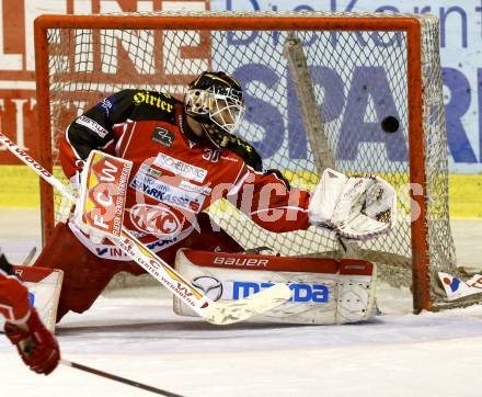
<svg viewBox="0 0 482 397">
<path fill-rule="evenodd" d="M 0 269 L 0 314 L 10 322 L 23 322 L 28 313 L 27 288 Z"/>
</svg>

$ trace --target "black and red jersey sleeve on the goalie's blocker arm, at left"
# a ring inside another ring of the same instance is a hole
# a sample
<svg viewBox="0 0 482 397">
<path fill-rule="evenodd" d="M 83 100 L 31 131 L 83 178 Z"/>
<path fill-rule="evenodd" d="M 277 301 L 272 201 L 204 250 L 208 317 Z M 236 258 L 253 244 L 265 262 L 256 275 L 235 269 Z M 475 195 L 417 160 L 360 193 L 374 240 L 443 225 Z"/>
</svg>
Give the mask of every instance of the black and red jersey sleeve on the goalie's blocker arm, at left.
<svg viewBox="0 0 482 397">
<path fill-rule="evenodd" d="M 70 178 L 94 150 L 110 151 L 116 138 L 114 126 L 129 118 L 135 102 L 134 90 L 124 90 L 104 99 L 68 125 L 60 143 L 60 163 Z M 113 154 L 113 150 L 111 150 Z"/>
</svg>

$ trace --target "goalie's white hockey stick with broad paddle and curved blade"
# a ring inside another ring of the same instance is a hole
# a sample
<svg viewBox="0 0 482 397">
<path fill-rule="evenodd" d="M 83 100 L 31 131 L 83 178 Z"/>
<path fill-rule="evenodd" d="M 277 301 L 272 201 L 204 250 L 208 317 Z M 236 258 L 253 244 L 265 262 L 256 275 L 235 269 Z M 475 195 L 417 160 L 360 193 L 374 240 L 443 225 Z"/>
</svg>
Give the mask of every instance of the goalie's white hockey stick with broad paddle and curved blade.
<svg viewBox="0 0 482 397">
<path fill-rule="evenodd" d="M 57 178 L 2 133 L 0 133 L 0 144 L 3 144 L 16 158 L 55 186 L 65 197 L 72 203 L 77 202 L 77 198 Z M 275 284 L 244 299 L 228 303 L 214 302 L 195 288 L 162 259 L 152 253 L 125 227 L 122 228 L 119 239 L 110 237 L 110 240 L 200 317 L 218 326 L 243 321 L 252 316 L 261 315 L 284 304 L 291 297 L 291 291 L 286 284 Z"/>
</svg>

